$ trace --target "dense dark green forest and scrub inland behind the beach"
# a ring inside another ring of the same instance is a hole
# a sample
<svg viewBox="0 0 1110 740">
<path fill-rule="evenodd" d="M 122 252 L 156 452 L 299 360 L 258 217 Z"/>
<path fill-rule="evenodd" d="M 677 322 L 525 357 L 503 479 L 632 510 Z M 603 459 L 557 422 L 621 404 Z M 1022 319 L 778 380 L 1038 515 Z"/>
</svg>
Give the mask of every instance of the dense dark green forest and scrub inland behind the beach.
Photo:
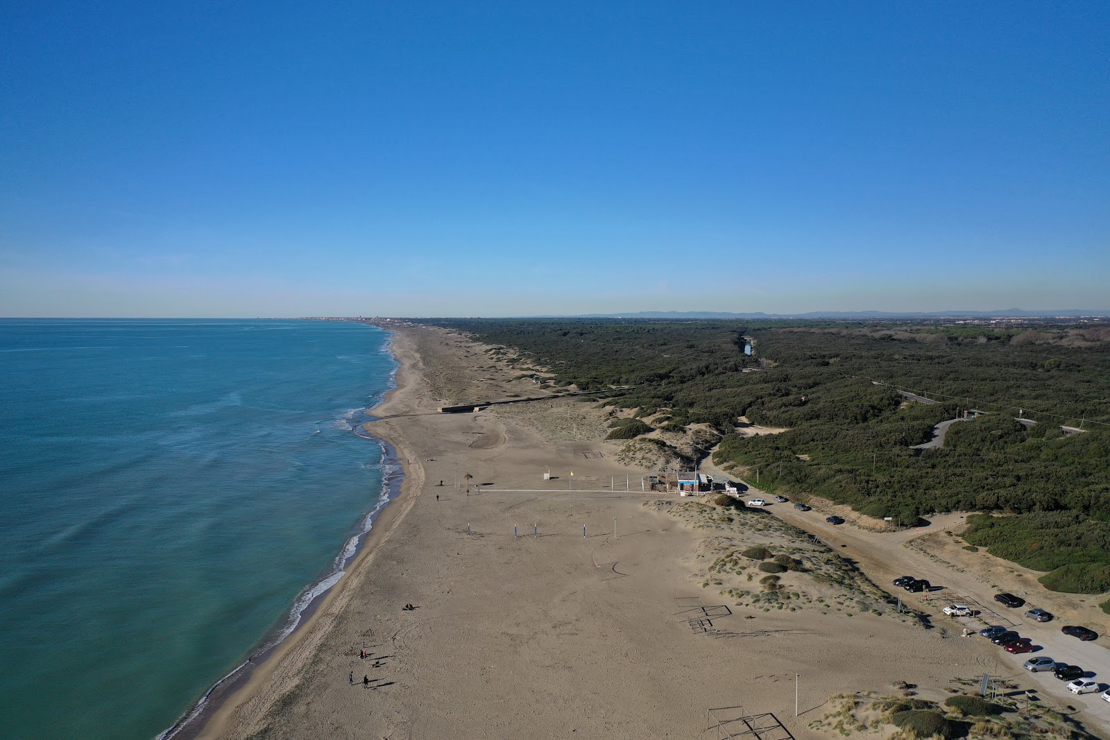
<svg viewBox="0 0 1110 740">
<path fill-rule="evenodd" d="M 549 368 L 559 385 L 636 384 L 606 403 L 640 418 L 666 412 L 672 429 L 709 425 L 720 435 L 714 460 L 758 469 L 761 488 L 817 494 L 904 524 L 953 509 L 1015 514 L 977 520 L 968 541 L 1045 570 L 1110 564 L 1104 323 L 427 323 L 513 347 L 522 367 Z M 942 448 L 911 448 L 965 409 L 988 414 L 951 425 Z M 739 416 L 789 430 L 743 437 Z M 1084 432 L 1066 435 L 1061 425 Z M 650 428 L 616 436 L 633 430 Z"/>
</svg>

